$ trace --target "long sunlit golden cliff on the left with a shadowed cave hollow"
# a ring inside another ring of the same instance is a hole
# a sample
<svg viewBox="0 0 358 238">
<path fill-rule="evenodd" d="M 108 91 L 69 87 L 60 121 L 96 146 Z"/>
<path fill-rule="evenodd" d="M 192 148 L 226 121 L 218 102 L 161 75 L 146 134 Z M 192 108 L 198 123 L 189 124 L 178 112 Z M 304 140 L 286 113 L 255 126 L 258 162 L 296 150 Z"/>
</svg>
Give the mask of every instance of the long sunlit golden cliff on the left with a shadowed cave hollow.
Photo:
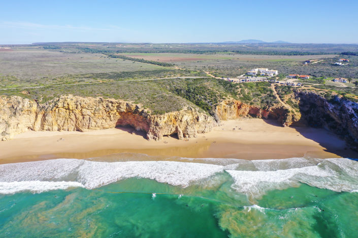
<svg viewBox="0 0 358 238">
<path fill-rule="evenodd" d="M 149 140 L 159 140 L 173 134 L 179 139 L 196 137 L 211 131 L 216 122 L 191 107 L 152 115 L 139 105 L 100 97 L 60 96 L 44 104 L 17 96 L 0 98 L 2 140 L 27 130 L 86 131 L 127 125 L 146 132 Z"/>
</svg>

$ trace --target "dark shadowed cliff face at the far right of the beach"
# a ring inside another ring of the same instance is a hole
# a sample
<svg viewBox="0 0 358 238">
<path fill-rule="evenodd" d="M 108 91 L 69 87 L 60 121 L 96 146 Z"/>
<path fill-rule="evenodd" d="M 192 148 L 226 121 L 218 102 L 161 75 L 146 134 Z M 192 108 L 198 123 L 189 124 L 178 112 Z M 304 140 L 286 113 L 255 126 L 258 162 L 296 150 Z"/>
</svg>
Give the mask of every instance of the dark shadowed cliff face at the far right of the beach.
<svg viewBox="0 0 358 238">
<path fill-rule="evenodd" d="M 358 103 L 334 96 L 327 100 L 315 91 L 296 90 L 301 123 L 330 130 L 348 142 L 358 142 Z"/>
</svg>

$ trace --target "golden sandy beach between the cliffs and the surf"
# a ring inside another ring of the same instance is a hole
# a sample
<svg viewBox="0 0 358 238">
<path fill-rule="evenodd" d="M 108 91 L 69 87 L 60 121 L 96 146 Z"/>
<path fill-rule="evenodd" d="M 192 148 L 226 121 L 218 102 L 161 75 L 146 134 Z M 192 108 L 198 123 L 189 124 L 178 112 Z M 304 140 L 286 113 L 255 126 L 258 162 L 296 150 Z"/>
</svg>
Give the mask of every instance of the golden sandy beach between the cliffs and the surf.
<svg viewBox="0 0 358 238">
<path fill-rule="evenodd" d="M 103 157 L 116 153 L 143 153 L 158 157 L 242 158 L 263 160 L 303 157 L 357 157 L 346 143 L 323 129 L 282 127 L 275 121 L 241 118 L 222 121 L 207 134 L 187 141 L 165 137 L 148 141 L 133 128 L 88 132 L 28 131 L 0 142 L 0 164 L 51 158 Z"/>
</svg>

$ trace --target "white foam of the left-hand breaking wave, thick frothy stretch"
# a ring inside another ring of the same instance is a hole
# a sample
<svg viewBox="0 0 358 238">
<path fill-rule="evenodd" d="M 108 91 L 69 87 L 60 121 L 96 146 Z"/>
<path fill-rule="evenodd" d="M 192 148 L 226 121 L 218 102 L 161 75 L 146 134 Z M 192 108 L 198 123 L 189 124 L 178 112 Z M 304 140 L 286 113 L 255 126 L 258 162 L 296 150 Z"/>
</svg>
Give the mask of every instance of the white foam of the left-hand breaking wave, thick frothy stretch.
<svg viewBox="0 0 358 238">
<path fill-rule="evenodd" d="M 77 182 L 87 189 L 92 189 L 122 179 L 138 177 L 186 187 L 190 182 L 210 177 L 217 172 L 223 172 L 223 167 L 169 161 L 107 163 L 58 159 L 0 165 L 0 181 Z"/>
</svg>

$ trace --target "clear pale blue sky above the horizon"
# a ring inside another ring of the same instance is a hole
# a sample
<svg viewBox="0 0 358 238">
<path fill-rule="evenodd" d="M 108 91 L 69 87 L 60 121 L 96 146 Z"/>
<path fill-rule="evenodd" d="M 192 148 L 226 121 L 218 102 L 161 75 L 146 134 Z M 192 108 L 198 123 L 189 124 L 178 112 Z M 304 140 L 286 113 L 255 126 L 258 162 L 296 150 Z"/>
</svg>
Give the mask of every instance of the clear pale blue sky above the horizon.
<svg viewBox="0 0 358 238">
<path fill-rule="evenodd" d="M 358 1 L 3 1 L 0 44 L 358 44 Z"/>
</svg>

